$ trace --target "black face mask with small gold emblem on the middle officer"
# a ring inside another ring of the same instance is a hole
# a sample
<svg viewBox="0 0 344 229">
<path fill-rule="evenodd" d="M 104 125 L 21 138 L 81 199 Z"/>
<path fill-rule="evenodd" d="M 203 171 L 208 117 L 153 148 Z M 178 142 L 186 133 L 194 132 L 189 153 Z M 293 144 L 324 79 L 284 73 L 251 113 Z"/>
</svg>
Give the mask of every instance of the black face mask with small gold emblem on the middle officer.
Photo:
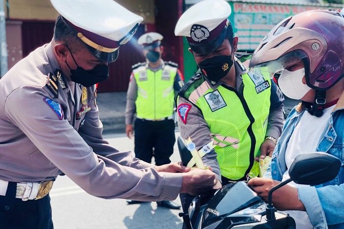
<svg viewBox="0 0 344 229">
<path fill-rule="evenodd" d="M 203 60 L 198 65 L 206 78 L 218 82 L 228 74 L 233 60 L 231 56 L 215 56 Z"/>
</svg>

